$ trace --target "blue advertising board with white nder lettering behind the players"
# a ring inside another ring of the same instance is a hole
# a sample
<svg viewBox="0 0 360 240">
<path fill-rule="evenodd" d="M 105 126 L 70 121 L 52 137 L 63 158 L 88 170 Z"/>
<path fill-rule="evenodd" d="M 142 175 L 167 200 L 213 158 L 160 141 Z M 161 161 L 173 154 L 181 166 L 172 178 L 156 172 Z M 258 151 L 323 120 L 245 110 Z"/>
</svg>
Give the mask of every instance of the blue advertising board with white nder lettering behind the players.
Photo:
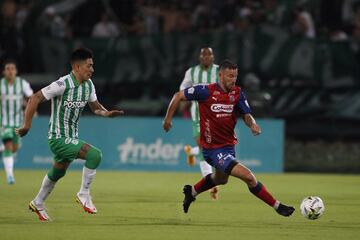
<svg viewBox="0 0 360 240">
<path fill-rule="evenodd" d="M 48 147 L 49 117 L 33 120 L 32 129 L 22 139 L 16 168 L 49 168 L 53 155 Z M 263 132 L 252 136 L 241 122 L 236 129 L 239 144 L 237 158 L 255 172 L 282 172 L 284 122 L 259 120 Z M 165 133 L 161 118 L 105 119 L 82 117 L 79 123 L 80 139 L 100 148 L 103 153 L 102 169 L 140 171 L 198 171 L 186 163 L 183 148 L 194 144 L 191 121 L 175 118 L 173 129 Z M 71 169 L 82 167 L 75 160 Z"/>
</svg>

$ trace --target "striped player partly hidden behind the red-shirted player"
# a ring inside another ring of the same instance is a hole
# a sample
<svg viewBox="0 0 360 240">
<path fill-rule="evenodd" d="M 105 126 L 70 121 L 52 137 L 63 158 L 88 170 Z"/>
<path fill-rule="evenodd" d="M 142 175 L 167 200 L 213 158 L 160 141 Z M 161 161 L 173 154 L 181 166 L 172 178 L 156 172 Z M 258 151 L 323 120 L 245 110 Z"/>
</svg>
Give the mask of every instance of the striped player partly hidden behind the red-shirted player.
<svg viewBox="0 0 360 240">
<path fill-rule="evenodd" d="M 180 91 L 185 88 L 189 88 L 197 85 L 208 85 L 210 83 L 216 83 L 218 81 L 219 65 L 214 64 L 214 52 L 210 47 L 203 47 L 200 49 L 199 62 L 200 64 L 189 68 L 185 77 L 180 85 Z M 192 133 L 196 142 L 195 147 L 185 145 L 184 151 L 187 156 L 187 162 L 189 165 L 194 166 L 196 158 L 200 160 L 199 166 L 201 174 L 207 176 L 213 172 L 212 167 L 204 160 L 200 147 L 200 115 L 199 105 L 196 101 L 191 103 L 191 119 L 192 119 Z M 210 190 L 210 196 L 212 199 L 217 199 L 218 187 L 214 187 Z"/>
</svg>

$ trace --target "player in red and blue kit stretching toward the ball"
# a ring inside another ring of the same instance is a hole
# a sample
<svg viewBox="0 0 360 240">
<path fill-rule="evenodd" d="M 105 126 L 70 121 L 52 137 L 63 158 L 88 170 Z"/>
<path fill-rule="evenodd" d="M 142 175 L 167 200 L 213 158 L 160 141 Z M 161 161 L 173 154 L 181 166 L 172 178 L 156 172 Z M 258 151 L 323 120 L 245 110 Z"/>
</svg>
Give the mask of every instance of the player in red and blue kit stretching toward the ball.
<svg viewBox="0 0 360 240">
<path fill-rule="evenodd" d="M 251 115 L 245 95 L 240 87 L 235 86 L 238 75 L 236 64 L 225 60 L 220 64 L 219 82 L 207 86 L 195 86 L 175 93 L 164 122 L 163 128 L 170 130 L 171 120 L 180 101 L 198 101 L 200 111 L 200 144 L 205 160 L 213 167 L 215 173 L 202 178 L 194 186 L 185 185 L 183 210 L 188 212 L 196 195 L 214 186 L 226 184 L 229 176 L 244 181 L 252 194 L 273 207 L 282 216 L 290 216 L 294 208 L 276 200 L 259 182 L 254 174 L 235 158 L 235 125 L 237 116 L 243 115 L 245 124 L 254 135 L 261 133 L 259 125 Z"/>
</svg>

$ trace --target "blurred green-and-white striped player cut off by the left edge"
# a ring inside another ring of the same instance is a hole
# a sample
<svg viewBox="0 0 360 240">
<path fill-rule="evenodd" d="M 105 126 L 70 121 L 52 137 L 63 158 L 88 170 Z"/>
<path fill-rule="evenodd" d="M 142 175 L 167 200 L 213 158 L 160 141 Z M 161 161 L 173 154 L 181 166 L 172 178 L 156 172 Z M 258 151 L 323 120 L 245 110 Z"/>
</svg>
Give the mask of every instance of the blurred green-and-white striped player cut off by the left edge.
<svg viewBox="0 0 360 240">
<path fill-rule="evenodd" d="M 33 94 L 33 90 L 25 79 L 17 76 L 15 61 L 5 61 L 3 74 L 0 80 L 1 137 L 5 148 L 3 163 L 7 182 L 14 184 L 14 157 L 20 144 L 15 129 L 22 125 L 24 101 Z"/>
</svg>

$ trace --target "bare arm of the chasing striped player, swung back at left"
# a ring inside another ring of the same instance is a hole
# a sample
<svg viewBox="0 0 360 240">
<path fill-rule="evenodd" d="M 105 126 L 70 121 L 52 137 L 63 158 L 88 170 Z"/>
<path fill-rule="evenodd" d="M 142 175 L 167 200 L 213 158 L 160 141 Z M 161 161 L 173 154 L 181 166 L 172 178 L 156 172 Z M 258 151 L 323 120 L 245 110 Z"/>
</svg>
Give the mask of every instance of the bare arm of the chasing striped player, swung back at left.
<svg viewBox="0 0 360 240">
<path fill-rule="evenodd" d="M 44 97 L 44 94 L 41 92 L 41 90 L 29 98 L 25 109 L 24 124 L 21 128 L 15 130 L 17 135 L 23 137 L 29 132 L 34 114 L 36 113 L 39 104 L 45 100 L 46 98 Z"/>
</svg>

